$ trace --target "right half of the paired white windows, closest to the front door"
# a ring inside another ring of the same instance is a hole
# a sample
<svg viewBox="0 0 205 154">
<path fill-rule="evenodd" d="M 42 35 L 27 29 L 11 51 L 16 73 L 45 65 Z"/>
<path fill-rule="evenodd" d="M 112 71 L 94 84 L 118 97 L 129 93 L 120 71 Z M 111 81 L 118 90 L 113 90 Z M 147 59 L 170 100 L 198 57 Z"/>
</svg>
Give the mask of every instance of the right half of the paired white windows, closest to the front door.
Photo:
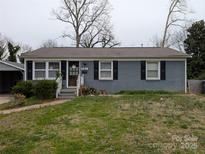
<svg viewBox="0 0 205 154">
<path fill-rule="evenodd" d="M 59 71 L 59 63 L 58 62 L 49 62 L 48 78 L 49 79 L 56 79 L 58 71 Z"/>
</svg>

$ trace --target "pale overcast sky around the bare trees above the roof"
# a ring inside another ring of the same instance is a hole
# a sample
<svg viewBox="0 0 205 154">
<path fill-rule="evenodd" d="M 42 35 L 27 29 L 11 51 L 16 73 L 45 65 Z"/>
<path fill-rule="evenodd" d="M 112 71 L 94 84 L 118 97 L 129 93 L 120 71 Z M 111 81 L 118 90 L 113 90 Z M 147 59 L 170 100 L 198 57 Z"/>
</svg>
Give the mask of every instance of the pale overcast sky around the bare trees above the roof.
<svg viewBox="0 0 205 154">
<path fill-rule="evenodd" d="M 169 0 L 110 0 L 114 34 L 121 46 L 151 46 L 154 36 L 162 35 Z M 15 42 L 34 49 L 47 39 L 71 46 L 69 39 L 60 39 L 68 26 L 55 20 L 52 9 L 61 0 L 0 0 L 0 33 Z M 188 0 L 194 11 L 190 19 L 205 19 L 205 0 Z"/>
</svg>

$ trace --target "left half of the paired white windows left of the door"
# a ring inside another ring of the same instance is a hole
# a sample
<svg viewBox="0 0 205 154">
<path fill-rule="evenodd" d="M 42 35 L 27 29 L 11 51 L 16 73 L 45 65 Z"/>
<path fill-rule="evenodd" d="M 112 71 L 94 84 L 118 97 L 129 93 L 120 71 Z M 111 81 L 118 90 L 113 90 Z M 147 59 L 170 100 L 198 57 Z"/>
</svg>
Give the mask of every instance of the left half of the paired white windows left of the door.
<svg viewBox="0 0 205 154">
<path fill-rule="evenodd" d="M 35 62 L 35 79 L 42 80 L 46 78 L 46 63 Z"/>
</svg>

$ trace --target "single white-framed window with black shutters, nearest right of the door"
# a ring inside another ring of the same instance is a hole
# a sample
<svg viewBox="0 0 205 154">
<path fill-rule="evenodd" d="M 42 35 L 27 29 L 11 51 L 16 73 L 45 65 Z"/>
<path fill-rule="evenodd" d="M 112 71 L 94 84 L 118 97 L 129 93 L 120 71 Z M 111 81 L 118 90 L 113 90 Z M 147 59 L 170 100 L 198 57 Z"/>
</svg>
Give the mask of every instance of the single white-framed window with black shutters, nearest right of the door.
<svg viewBox="0 0 205 154">
<path fill-rule="evenodd" d="M 113 62 L 99 62 L 100 80 L 113 80 Z"/>
</svg>

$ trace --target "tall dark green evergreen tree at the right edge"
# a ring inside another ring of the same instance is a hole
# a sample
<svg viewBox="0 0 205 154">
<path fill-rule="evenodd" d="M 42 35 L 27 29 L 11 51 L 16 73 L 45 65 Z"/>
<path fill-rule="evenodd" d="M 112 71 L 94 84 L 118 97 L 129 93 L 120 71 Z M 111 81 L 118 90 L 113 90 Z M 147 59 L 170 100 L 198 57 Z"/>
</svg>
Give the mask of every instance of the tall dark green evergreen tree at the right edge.
<svg viewBox="0 0 205 154">
<path fill-rule="evenodd" d="M 187 32 L 185 51 L 192 55 L 192 58 L 188 59 L 188 78 L 205 79 L 205 22 L 201 20 L 193 23 Z"/>
</svg>

